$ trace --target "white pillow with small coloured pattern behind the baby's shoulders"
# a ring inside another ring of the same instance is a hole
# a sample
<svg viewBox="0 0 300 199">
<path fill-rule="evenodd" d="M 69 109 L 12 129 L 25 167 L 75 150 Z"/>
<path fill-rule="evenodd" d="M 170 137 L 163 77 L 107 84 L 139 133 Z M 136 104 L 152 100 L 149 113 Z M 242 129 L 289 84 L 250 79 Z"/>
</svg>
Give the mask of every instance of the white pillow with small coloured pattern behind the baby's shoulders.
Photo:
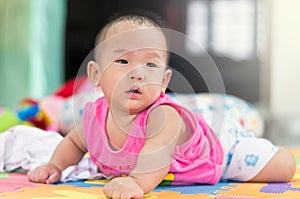
<svg viewBox="0 0 300 199">
<path fill-rule="evenodd" d="M 81 122 L 82 110 L 86 102 L 93 101 L 103 96 L 96 92 L 81 93 L 65 100 L 60 111 L 60 132 L 66 135 L 74 123 Z M 224 112 L 225 119 L 234 120 L 256 136 L 263 136 L 264 122 L 253 105 L 232 95 L 197 93 L 197 94 L 169 94 L 176 102 L 193 112 L 201 112 L 209 123 L 214 114 Z"/>
</svg>

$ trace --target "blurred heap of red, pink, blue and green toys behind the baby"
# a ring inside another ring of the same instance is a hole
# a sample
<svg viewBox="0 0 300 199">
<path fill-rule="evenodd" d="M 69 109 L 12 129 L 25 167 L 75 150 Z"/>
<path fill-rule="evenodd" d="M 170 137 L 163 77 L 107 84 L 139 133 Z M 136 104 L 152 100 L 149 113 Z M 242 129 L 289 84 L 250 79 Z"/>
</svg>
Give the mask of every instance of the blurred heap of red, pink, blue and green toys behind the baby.
<svg viewBox="0 0 300 199">
<path fill-rule="evenodd" d="M 0 132 L 15 125 L 35 126 L 43 130 L 52 130 L 66 134 L 70 128 L 65 128 L 65 119 L 61 118 L 65 103 L 70 103 L 73 96 L 92 90 L 86 76 L 67 81 L 53 94 L 41 99 L 25 98 L 15 110 L 0 108 Z M 68 112 L 68 120 L 74 123 L 72 112 Z"/>
</svg>

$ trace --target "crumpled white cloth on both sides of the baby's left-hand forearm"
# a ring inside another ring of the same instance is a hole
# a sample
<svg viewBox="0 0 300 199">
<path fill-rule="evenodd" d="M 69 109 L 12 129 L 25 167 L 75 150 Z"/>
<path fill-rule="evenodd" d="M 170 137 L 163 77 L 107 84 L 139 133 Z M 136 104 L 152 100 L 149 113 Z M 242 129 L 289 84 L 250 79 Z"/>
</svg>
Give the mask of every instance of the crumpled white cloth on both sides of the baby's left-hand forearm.
<svg viewBox="0 0 300 199">
<path fill-rule="evenodd" d="M 54 131 L 17 125 L 0 134 L 0 172 L 31 171 L 46 164 L 63 137 Z M 105 177 L 84 157 L 78 165 L 62 172 L 61 181 Z"/>
</svg>

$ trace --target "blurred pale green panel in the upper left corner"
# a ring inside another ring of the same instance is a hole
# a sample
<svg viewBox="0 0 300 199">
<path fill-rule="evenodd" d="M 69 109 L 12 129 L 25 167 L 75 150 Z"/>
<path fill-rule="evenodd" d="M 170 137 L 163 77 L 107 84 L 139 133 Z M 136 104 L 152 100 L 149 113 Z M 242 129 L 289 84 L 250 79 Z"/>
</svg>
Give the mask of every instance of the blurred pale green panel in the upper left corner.
<svg viewBox="0 0 300 199">
<path fill-rule="evenodd" d="M 64 81 L 66 1 L 0 0 L 0 106 L 40 98 Z"/>
</svg>

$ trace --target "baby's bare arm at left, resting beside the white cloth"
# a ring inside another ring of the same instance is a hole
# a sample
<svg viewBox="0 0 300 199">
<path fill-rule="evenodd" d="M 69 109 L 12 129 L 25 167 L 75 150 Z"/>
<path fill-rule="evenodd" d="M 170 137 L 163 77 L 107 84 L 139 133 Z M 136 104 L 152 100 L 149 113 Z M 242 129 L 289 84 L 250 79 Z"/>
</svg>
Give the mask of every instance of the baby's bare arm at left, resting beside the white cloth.
<svg viewBox="0 0 300 199">
<path fill-rule="evenodd" d="M 77 164 L 86 153 L 86 147 L 74 128 L 57 146 L 50 161 L 28 172 L 30 181 L 54 183 L 60 180 L 61 172 L 68 166 Z"/>
</svg>

